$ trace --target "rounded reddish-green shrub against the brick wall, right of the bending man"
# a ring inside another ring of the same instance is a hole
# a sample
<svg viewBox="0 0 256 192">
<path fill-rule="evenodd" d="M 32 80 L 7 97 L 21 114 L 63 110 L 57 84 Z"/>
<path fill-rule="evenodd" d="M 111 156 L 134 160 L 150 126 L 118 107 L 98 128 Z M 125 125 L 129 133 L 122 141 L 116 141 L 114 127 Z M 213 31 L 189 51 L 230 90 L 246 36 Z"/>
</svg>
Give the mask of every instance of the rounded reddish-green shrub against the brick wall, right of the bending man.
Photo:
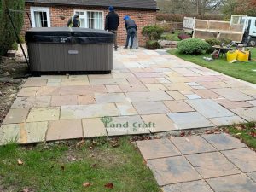
<svg viewBox="0 0 256 192">
<path fill-rule="evenodd" d="M 163 32 L 164 29 L 160 26 L 144 26 L 142 34 L 149 40 L 159 40 Z"/>
</svg>

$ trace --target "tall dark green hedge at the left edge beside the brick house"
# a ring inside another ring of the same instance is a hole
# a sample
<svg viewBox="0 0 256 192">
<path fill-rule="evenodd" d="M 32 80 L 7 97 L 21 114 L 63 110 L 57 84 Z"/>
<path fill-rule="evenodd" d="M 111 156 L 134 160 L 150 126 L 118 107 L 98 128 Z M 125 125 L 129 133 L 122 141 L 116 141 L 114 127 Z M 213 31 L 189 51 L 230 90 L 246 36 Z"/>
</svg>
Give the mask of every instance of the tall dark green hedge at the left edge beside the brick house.
<svg viewBox="0 0 256 192">
<path fill-rule="evenodd" d="M 1 0 L 0 3 L 0 55 L 5 55 L 7 50 L 12 47 L 15 43 L 15 31 L 8 16 L 8 10 L 24 10 L 24 0 Z M 24 14 L 23 13 L 12 13 L 12 19 L 15 24 L 15 28 L 20 34 L 23 26 Z"/>
</svg>

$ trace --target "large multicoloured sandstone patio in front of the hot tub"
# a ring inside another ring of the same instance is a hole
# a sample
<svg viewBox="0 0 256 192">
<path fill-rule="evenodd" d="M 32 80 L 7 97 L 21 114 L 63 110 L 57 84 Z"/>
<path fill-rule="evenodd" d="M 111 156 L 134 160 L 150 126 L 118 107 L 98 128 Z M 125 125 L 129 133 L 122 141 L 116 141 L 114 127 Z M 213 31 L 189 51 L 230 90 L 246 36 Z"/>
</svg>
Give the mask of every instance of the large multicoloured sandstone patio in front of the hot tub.
<svg viewBox="0 0 256 192">
<path fill-rule="evenodd" d="M 27 79 L 3 121 L 0 143 L 207 128 L 256 121 L 255 114 L 255 84 L 165 51 L 119 50 L 112 74 Z M 105 116 L 128 127 L 105 127 Z M 150 122 L 154 127 L 134 129 Z"/>
</svg>

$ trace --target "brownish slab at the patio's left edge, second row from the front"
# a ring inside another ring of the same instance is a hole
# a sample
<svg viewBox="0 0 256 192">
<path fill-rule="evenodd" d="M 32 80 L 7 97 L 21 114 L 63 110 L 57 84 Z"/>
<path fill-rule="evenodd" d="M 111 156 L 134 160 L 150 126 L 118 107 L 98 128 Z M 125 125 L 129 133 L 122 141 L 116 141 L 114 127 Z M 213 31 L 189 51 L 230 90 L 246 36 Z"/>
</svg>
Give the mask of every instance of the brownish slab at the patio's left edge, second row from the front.
<svg viewBox="0 0 256 192">
<path fill-rule="evenodd" d="M 5 119 L 3 119 L 3 124 L 18 124 L 26 122 L 28 112 L 29 108 L 11 108 Z"/>
</svg>

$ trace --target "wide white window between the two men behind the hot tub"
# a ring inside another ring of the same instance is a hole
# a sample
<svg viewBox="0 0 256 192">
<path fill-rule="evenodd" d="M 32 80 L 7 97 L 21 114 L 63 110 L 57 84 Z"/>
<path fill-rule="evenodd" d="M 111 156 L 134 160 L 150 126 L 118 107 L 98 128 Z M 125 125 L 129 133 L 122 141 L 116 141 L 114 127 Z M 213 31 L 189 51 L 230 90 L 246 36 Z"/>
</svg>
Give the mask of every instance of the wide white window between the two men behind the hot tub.
<svg viewBox="0 0 256 192">
<path fill-rule="evenodd" d="M 102 11 L 75 10 L 74 13 L 80 16 L 81 27 L 90 29 L 104 29 Z"/>
</svg>

